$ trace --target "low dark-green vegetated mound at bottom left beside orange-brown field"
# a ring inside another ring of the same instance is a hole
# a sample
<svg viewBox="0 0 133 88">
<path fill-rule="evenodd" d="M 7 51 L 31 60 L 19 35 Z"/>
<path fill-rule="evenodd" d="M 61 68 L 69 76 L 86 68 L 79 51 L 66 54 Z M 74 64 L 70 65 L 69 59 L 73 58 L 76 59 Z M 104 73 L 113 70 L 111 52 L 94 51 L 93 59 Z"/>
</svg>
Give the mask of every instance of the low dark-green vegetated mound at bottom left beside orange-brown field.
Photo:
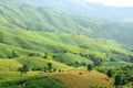
<svg viewBox="0 0 133 88">
<path fill-rule="evenodd" d="M 64 84 L 55 78 L 47 76 L 28 77 L 25 79 L 16 79 L 0 82 L 0 88 L 65 88 Z"/>
</svg>

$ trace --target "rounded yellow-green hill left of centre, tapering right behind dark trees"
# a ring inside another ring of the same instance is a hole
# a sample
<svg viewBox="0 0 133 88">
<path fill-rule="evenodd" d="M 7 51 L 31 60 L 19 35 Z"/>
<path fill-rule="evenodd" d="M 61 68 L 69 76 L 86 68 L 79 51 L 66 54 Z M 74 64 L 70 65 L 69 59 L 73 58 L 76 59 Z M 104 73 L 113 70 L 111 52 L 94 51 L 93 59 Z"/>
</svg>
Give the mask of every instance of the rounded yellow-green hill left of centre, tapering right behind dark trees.
<svg viewBox="0 0 133 88">
<path fill-rule="evenodd" d="M 44 70 L 44 66 L 47 67 L 45 70 L 48 70 L 48 66 L 47 66 L 48 63 L 52 63 L 52 66 L 58 69 L 61 68 L 61 69 L 68 70 L 72 68 L 70 66 L 66 66 L 64 64 L 61 64 L 54 61 L 43 59 L 34 56 L 32 57 L 23 56 L 23 57 L 17 58 L 17 61 L 20 62 L 21 64 L 28 64 L 30 69 L 32 70 Z"/>
</svg>

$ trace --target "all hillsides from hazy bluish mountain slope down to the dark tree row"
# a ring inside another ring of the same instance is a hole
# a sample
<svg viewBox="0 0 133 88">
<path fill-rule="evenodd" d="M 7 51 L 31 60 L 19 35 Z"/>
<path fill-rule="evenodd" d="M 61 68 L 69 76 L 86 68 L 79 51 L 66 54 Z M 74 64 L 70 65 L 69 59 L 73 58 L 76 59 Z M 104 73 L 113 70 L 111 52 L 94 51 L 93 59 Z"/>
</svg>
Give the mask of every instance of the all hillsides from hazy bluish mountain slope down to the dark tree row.
<svg viewBox="0 0 133 88">
<path fill-rule="evenodd" d="M 88 55 L 106 61 L 132 55 L 132 24 L 73 18 L 33 6 L 35 1 L 9 2 L 0 1 L 1 57 L 10 57 L 14 51 L 19 56 L 37 53 L 42 58 L 47 52 L 64 64 L 88 64 L 92 63 Z"/>
</svg>

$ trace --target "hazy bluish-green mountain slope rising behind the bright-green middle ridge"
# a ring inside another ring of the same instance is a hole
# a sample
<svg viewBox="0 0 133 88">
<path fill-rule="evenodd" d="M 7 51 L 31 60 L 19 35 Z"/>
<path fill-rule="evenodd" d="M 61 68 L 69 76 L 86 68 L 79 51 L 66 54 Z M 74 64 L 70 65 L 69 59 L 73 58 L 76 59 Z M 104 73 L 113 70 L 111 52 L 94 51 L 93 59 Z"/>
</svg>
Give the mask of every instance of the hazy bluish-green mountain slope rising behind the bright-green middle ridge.
<svg viewBox="0 0 133 88">
<path fill-rule="evenodd" d="M 91 37 L 115 40 L 133 50 L 132 23 L 113 23 L 86 18 L 72 18 L 60 14 L 45 7 L 31 6 L 29 2 L 2 0 L 0 23 L 7 29 L 65 32 Z M 49 1 L 48 1 L 49 2 Z M 4 3 L 4 4 L 3 4 Z M 18 4 L 17 4 L 18 3 Z M 21 3 L 21 4 L 19 4 Z M 8 4 L 8 6 L 6 6 Z"/>
</svg>

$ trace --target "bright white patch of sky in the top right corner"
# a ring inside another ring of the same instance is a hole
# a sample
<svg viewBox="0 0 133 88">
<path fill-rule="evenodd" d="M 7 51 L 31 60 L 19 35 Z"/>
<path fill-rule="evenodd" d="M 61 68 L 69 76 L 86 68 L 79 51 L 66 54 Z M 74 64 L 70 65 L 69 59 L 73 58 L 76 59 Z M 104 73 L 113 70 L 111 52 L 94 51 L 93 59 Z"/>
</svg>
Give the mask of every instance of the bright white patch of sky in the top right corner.
<svg viewBox="0 0 133 88">
<path fill-rule="evenodd" d="M 86 0 L 90 2 L 103 3 L 113 7 L 133 7 L 133 0 Z"/>
</svg>

